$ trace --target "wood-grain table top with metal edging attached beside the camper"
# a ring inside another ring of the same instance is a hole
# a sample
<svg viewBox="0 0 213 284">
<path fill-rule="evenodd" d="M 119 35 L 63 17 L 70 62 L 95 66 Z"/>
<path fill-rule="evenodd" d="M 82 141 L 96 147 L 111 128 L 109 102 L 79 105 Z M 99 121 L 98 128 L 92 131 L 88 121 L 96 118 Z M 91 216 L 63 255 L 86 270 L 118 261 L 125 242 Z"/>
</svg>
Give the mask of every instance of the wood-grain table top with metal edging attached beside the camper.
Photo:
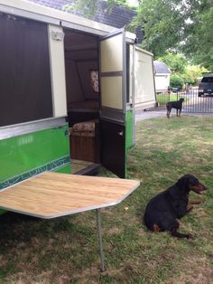
<svg viewBox="0 0 213 284">
<path fill-rule="evenodd" d="M 137 180 L 44 172 L 0 192 L 0 208 L 50 219 L 122 202 Z"/>
</svg>

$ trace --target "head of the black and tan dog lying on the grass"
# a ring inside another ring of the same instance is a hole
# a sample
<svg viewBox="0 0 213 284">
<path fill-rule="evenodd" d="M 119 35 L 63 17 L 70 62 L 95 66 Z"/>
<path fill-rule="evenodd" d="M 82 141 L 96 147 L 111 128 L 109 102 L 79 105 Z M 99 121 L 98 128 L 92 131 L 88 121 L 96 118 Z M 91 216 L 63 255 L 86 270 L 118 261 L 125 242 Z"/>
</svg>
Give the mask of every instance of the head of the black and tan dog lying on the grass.
<svg viewBox="0 0 213 284">
<path fill-rule="evenodd" d="M 201 194 L 204 190 L 207 190 L 207 187 L 201 184 L 197 177 L 190 174 L 181 176 L 177 182 L 177 186 L 181 189 L 181 191 L 187 193 L 192 190 L 196 194 Z"/>
</svg>

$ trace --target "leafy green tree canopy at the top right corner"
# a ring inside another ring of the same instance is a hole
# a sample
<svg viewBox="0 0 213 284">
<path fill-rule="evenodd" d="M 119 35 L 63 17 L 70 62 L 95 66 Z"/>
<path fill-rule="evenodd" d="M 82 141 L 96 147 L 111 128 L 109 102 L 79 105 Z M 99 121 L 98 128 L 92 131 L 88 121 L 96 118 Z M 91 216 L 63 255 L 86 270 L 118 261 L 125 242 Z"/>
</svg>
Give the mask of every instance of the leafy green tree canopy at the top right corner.
<svg viewBox="0 0 213 284">
<path fill-rule="evenodd" d="M 142 0 L 133 24 L 142 24 L 142 46 L 155 57 L 181 51 L 213 70 L 213 0 Z"/>
</svg>

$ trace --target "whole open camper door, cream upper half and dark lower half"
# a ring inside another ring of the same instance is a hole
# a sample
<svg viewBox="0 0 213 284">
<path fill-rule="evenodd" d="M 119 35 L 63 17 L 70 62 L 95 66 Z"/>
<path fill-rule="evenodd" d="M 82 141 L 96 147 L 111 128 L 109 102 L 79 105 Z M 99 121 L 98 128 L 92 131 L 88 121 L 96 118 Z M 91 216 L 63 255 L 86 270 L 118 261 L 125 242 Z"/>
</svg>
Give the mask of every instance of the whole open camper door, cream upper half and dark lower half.
<svg viewBox="0 0 213 284">
<path fill-rule="evenodd" d="M 125 177 L 125 30 L 100 40 L 101 164 Z"/>
</svg>

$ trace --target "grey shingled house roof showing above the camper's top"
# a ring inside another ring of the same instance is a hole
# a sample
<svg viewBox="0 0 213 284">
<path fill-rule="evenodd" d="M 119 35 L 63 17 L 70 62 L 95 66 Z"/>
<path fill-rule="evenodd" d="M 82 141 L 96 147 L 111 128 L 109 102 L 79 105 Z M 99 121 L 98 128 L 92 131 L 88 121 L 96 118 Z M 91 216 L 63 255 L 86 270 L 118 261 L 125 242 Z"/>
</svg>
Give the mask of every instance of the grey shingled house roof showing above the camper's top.
<svg viewBox="0 0 213 284">
<path fill-rule="evenodd" d="M 63 10 L 64 5 L 69 5 L 72 0 L 28 0 L 39 5 L 49 6 L 53 9 Z M 66 11 L 66 13 L 72 14 L 72 11 Z M 82 14 L 79 14 L 82 16 Z M 116 28 L 122 28 L 127 24 L 130 24 L 136 12 L 127 9 L 122 6 L 114 5 L 110 11 L 107 11 L 107 3 L 105 1 L 100 1 L 97 6 L 97 13 L 94 15 L 92 20 L 114 26 Z M 141 43 L 144 38 L 144 33 L 140 26 L 135 30 L 137 36 L 137 42 Z"/>
</svg>

